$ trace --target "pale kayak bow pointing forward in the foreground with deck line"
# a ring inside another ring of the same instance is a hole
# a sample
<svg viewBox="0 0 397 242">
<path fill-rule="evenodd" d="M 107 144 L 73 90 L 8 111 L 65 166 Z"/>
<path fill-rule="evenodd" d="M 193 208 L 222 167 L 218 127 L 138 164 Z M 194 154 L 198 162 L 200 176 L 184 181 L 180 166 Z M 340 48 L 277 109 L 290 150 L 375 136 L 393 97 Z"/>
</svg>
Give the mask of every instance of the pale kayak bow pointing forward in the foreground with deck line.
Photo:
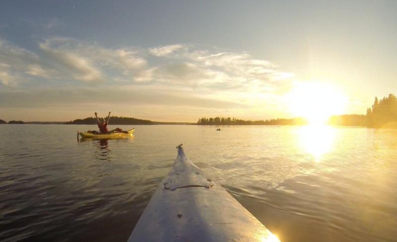
<svg viewBox="0 0 397 242">
<path fill-rule="evenodd" d="M 174 165 L 154 192 L 129 242 L 279 242 L 190 161 L 181 146 L 177 146 Z"/>
</svg>

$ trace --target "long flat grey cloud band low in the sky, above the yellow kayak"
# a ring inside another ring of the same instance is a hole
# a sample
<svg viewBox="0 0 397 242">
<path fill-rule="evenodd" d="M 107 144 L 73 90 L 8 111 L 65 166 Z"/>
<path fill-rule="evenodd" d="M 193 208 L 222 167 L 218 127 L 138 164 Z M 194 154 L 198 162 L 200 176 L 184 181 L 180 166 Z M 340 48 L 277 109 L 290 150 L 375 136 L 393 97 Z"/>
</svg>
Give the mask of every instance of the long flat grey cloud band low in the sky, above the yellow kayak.
<svg viewBox="0 0 397 242">
<path fill-rule="evenodd" d="M 134 105 L 166 105 L 198 108 L 244 108 L 235 101 L 220 101 L 201 97 L 193 91 L 176 93 L 174 90 L 133 86 L 81 89 L 37 89 L 30 92 L 0 91 L 0 107 L 60 107 L 70 104 L 113 103 Z"/>
</svg>

